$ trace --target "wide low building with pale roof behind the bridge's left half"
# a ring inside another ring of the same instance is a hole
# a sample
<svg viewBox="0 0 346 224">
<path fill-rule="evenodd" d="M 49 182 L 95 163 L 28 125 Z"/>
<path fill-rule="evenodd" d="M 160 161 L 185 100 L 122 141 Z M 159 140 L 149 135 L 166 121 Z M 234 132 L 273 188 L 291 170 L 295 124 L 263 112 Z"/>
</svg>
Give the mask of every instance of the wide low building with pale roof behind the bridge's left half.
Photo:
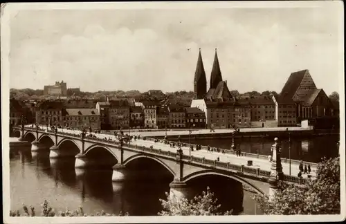
<svg viewBox="0 0 346 224">
<path fill-rule="evenodd" d="M 100 113 L 97 109 L 66 109 L 64 121 L 66 127 L 74 129 L 100 129 Z"/>
</svg>

